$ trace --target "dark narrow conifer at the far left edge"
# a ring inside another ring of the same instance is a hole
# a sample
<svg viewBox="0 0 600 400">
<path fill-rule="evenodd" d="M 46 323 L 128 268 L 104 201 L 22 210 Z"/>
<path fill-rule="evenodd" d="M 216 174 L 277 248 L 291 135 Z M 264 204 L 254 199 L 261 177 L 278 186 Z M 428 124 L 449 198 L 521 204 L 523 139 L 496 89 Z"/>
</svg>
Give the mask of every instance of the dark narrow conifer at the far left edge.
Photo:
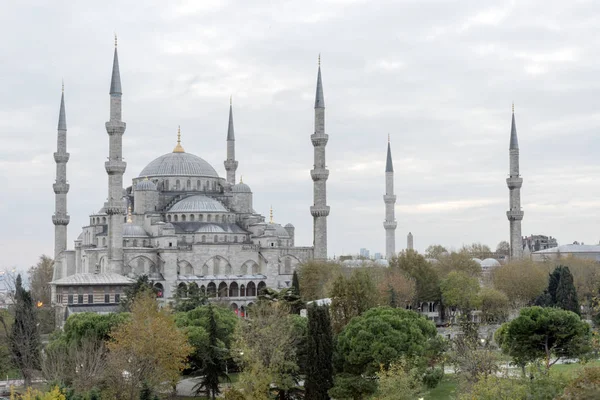
<svg viewBox="0 0 600 400">
<path fill-rule="evenodd" d="M 25 387 L 29 387 L 34 372 L 40 369 L 41 340 L 33 299 L 31 293 L 23 288 L 20 274 L 15 283 L 14 310 L 9 335 L 10 353 L 13 364 L 23 375 Z"/>
</svg>

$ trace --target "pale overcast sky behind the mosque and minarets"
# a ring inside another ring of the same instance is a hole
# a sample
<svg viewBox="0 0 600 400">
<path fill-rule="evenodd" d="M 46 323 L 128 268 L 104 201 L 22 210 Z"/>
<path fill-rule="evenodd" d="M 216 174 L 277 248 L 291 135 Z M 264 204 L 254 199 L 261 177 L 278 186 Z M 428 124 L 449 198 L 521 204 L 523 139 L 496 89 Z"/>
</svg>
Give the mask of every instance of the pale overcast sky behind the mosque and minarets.
<svg viewBox="0 0 600 400">
<path fill-rule="evenodd" d="M 125 182 L 182 145 L 237 176 L 254 208 L 312 244 L 313 106 L 321 53 L 330 256 L 384 252 L 387 135 L 396 249 L 508 240 L 515 102 L 523 234 L 600 239 L 600 4 L 595 1 L 19 1 L 0 11 L 2 267 L 52 255 L 53 152 L 65 81 L 69 248 L 107 194 L 113 33 Z"/>
</svg>

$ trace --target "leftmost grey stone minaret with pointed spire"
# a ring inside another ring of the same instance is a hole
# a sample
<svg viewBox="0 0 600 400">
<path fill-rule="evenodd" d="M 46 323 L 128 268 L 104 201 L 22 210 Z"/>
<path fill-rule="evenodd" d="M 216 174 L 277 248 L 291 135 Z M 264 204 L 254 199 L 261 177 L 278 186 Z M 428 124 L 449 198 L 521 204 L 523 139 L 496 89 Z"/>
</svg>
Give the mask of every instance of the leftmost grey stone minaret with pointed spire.
<svg viewBox="0 0 600 400">
<path fill-rule="evenodd" d="M 54 260 L 56 260 L 59 254 L 67 249 L 67 225 L 69 225 L 70 220 L 69 214 L 67 214 L 67 193 L 69 193 L 67 161 L 69 161 L 69 153 L 67 153 L 67 118 L 65 116 L 64 84 L 60 96 L 58 135 L 54 161 L 56 162 L 56 182 L 52 185 L 52 188 L 56 197 L 52 223 L 54 223 Z"/>
</svg>

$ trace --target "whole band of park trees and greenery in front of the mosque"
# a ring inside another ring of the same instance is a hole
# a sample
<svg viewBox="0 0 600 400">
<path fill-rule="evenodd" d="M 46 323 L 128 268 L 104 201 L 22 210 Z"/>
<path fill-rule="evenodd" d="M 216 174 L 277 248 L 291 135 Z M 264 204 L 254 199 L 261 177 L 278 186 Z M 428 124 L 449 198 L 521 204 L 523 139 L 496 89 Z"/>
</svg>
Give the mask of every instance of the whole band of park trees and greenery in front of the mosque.
<svg viewBox="0 0 600 400">
<path fill-rule="evenodd" d="M 0 373 L 24 380 L 14 399 L 176 398 L 181 379 L 203 399 L 600 398 L 600 264 L 482 271 L 473 260 L 506 250 L 434 245 L 389 267 L 311 261 L 243 318 L 194 290 L 159 303 L 141 276 L 121 312 L 75 313 L 57 330 L 43 322 L 52 260 L 41 257 L 0 310 Z"/>
</svg>

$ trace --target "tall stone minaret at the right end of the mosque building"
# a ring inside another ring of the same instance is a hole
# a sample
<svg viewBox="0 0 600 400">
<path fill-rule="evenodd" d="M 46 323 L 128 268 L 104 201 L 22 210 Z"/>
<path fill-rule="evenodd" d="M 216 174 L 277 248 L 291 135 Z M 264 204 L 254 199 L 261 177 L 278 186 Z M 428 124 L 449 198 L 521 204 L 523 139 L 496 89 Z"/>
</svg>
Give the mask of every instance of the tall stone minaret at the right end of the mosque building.
<svg viewBox="0 0 600 400">
<path fill-rule="evenodd" d="M 325 133 L 325 100 L 323 99 L 323 83 L 321 82 L 321 55 L 319 55 L 319 72 L 317 74 L 317 94 L 315 96 L 315 133 L 310 136 L 315 148 L 315 164 L 310 171 L 314 182 L 314 204 L 310 207 L 313 216 L 313 245 L 316 260 L 327 259 L 327 178 L 329 170 L 325 162 L 325 146 L 329 135 Z"/>
</svg>

